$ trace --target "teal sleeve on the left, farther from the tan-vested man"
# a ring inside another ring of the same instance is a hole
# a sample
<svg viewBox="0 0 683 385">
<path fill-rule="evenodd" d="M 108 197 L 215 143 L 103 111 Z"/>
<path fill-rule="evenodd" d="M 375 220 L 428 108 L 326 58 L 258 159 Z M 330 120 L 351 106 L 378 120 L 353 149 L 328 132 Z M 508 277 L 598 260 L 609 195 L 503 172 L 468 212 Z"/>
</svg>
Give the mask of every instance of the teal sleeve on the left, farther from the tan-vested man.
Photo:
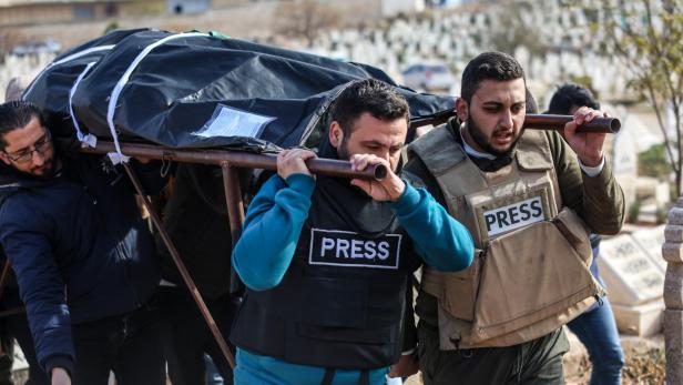
<svg viewBox="0 0 683 385">
<path fill-rule="evenodd" d="M 314 190 L 315 180 L 305 174 L 293 174 L 286 182 L 274 175 L 261 188 L 233 250 L 233 265 L 247 287 L 262 291 L 279 284 L 292 263 Z"/>
</svg>

